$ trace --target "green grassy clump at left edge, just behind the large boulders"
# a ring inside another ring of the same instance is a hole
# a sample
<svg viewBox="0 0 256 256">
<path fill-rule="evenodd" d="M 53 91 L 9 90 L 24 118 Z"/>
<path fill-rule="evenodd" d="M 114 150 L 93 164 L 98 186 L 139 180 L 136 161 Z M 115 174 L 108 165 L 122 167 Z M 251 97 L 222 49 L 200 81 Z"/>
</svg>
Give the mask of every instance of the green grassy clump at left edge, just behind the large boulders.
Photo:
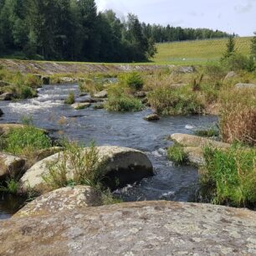
<svg viewBox="0 0 256 256">
<path fill-rule="evenodd" d="M 51 146 L 48 136 L 31 125 L 24 128 L 14 128 L 3 138 L 3 150 L 14 155 L 28 155 L 28 152 L 34 152 Z"/>
</svg>

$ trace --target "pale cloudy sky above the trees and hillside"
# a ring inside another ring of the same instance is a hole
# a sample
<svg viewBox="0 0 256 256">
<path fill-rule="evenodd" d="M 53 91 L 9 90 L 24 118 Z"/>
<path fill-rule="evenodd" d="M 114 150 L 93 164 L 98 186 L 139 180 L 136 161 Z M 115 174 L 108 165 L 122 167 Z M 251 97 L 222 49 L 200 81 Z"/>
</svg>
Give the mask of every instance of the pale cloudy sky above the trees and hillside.
<svg viewBox="0 0 256 256">
<path fill-rule="evenodd" d="M 134 13 L 141 22 L 182 28 L 212 28 L 240 36 L 256 31 L 256 0 L 95 0 L 98 10 L 119 18 Z"/>
</svg>

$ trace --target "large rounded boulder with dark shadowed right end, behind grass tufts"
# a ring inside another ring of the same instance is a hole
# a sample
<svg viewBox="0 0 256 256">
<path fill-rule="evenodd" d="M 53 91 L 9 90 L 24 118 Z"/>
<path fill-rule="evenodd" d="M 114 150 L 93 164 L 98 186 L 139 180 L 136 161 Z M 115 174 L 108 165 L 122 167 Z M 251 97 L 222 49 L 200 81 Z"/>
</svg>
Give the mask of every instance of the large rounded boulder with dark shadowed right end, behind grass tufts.
<svg viewBox="0 0 256 256">
<path fill-rule="evenodd" d="M 102 174 L 105 179 L 102 182 L 110 188 L 115 188 L 117 185 L 122 187 L 153 175 L 151 161 L 141 151 L 118 146 L 99 146 L 97 149 L 100 162 L 104 162 Z M 48 192 L 49 187 L 45 186 L 43 177 L 49 174 L 49 163 L 56 161 L 63 161 L 63 152 L 49 156 L 32 166 L 20 180 L 20 192 L 27 192 L 28 189 L 38 193 Z M 74 170 L 69 162 L 66 166 L 68 176 L 72 179 Z"/>
</svg>

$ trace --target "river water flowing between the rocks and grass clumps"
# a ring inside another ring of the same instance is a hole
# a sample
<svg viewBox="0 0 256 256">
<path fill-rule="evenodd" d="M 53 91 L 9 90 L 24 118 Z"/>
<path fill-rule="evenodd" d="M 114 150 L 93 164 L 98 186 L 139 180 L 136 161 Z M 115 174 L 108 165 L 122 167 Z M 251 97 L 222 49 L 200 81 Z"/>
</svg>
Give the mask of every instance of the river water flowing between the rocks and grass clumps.
<svg viewBox="0 0 256 256">
<path fill-rule="evenodd" d="M 192 200 L 197 191 L 197 169 L 175 166 L 167 161 L 166 147 L 172 144 L 167 138 L 172 133 L 192 133 L 192 127 L 211 125 L 217 121 L 216 116 L 173 116 L 147 122 L 143 117 L 151 114 L 149 109 L 125 114 L 94 110 L 92 107 L 73 110 L 69 105 L 64 105 L 70 91 L 78 100 L 88 97 L 79 97 L 77 84 L 67 84 L 45 85 L 39 89 L 38 98 L 32 100 L 0 101 L 0 109 L 5 113 L 0 117 L 0 122 L 18 123 L 24 116 L 31 116 L 34 125 L 49 130 L 54 137 L 64 135 L 84 143 L 93 140 L 97 145 L 127 146 L 144 151 L 151 159 L 155 176 L 128 184 L 115 191 L 115 195 L 124 201 Z M 8 218 L 17 211 L 17 207 L 9 206 L 14 203 L 12 200 L 0 198 L 0 218 Z"/>
</svg>

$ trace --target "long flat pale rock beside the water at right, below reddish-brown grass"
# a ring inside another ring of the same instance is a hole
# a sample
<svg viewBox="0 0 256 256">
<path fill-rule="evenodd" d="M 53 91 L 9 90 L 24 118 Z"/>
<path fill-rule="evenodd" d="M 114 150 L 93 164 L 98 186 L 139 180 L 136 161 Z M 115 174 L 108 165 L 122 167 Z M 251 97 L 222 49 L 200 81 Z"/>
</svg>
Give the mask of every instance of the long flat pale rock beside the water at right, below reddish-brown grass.
<svg viewBox="0 0 256 256">
<path fill-rule="evenodd" d="M 171 140 L 185 147 L 213 146 L 216 148 L 228 148 L 231 146 L 230 144 L 224 143 L 221 141 L 213 141 L 208 138 L 204 138 L 200 136 L 192 136 L 192 135 L 182 134 L 182 133 L 172 134 Z"/>
</svg>

